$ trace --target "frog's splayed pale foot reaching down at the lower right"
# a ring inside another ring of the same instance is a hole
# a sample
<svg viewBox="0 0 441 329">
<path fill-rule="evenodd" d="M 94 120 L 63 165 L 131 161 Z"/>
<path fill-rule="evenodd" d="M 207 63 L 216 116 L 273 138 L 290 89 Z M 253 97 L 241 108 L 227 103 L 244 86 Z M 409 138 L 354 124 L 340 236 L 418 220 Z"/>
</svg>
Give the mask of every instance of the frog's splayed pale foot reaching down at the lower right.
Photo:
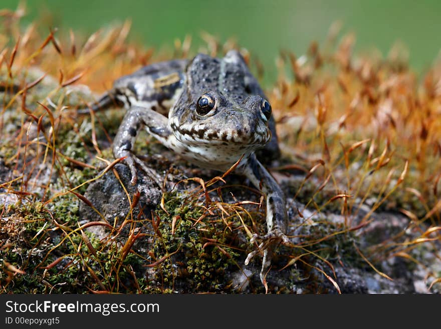
<svg viewBox="0 0 441 329">
<path fill-rule="evenodd" d="M 265 276 L 271 266 L 271 259 L 273 258 L 273 252 L 279 245 L 279 243 L 290 243 L 288 237 L 283 233 L 280 228 L 274 228 L 265 235 L 253 234 L 250 242 L 261 241 L 257 250 L 250 252 L 245 259 L 245 265 L 248 265 L 251 259 L 258 253 L 263 251 L 262 269 L 260 271 L 260 279 L 265 285 Z"/>
</svg>

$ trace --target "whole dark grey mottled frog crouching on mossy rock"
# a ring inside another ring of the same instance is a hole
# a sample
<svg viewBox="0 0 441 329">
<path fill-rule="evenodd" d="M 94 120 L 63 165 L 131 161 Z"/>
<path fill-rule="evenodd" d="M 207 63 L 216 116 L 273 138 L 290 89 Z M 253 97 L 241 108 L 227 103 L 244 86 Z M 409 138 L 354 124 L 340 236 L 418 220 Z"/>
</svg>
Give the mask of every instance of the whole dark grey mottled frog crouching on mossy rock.
<svg viewBox="0 0 441 329">
<path fill-rule="evenodd" d="M 263 163 L 280 154 L 272 107 L 239 51 L 223 58 L 197 54 L 192 59 L 153 63 L 123 76 L 94 104 L 90 113 L 118 105 L 127 109 L 113 141 L 113 155 L 124 158 L 136 184 L 139 166 L 158 186 L 160 177 L 133 152 L 145 128 L 165 147 L 196 166 L 245 175 L 266 197 L 267 233 L 245 265 L 263 251 L 260 279 L 277 246 L 289 243 L 285 195 Z M 260 243 L 259 243 L 260 242 Z"/>
</svg>

